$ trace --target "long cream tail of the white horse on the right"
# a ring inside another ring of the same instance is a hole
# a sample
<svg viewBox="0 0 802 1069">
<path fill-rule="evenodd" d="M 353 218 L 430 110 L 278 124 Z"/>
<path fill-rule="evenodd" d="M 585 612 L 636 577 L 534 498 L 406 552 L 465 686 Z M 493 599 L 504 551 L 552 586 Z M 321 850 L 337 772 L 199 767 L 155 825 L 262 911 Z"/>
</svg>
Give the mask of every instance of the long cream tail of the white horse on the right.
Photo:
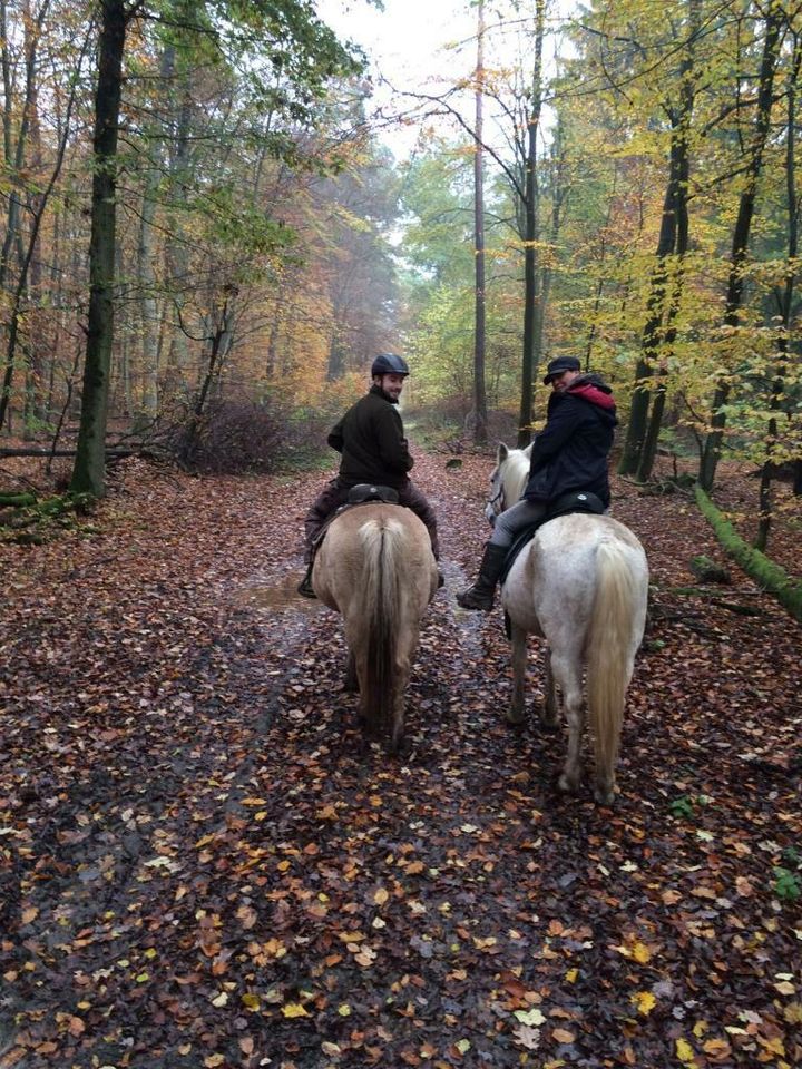
<svg viewBox="0 0 802 1069">
<path fill-rule="evenodd" d="M 627 546 L 603 539 L 596 559 L 598 583 L 587 644 L 587 702 L 596 754 L 597 798 L 609 803 L 624 702 L 637 646 L 634 629 L 639 588 Z"/>
</svg>

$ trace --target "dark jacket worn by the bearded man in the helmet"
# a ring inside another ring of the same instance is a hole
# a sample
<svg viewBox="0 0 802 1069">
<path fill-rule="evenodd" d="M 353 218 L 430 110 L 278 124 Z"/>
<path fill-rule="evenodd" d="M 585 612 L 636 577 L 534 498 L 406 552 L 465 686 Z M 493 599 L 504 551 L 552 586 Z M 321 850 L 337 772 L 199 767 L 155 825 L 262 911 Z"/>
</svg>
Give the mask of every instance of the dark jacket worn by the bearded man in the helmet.
<svg viewBox="0 0 802 1069">
<path fill-rule="evenodd" d="M 409 482 L 407 472 L 414 461 L 395 404 L 381 386 L 371 386 L 332 428 L 327 442 L 342 453 L 339 474 L 342 486 L 378 482 L 400 490 Z"/>
</svg>

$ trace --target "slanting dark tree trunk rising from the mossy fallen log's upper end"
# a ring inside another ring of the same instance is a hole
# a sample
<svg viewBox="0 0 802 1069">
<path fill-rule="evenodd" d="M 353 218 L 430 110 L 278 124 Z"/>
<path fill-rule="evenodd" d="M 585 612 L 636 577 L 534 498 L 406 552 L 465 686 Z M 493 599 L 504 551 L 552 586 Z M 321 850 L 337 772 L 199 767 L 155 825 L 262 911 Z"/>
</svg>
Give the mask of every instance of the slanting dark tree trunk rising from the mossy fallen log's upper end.
<svg viewBox="0 0 802 1069">
<path fill-rule="evenodd" d="M 730 261 L 730 279 L 727 283 L 726 312 L 724 323 L 726 326 L 737 328 L 740 322 L 740 310 L 743 301 L 743 273 L 746 263 L 746 249 L 749 247 L 750 229 L 752 227 L 752 216 L 754 215 L 755 200 L 757 198 L 757 179 L 760 178 L 763 153 L 765 149 L 766 137 L 771 120 L 772 96 L 774 91 L 774 71 L 776 69 L 777 52 L 780 45 L 780 24 L 781 16 L 779 9 L 770 7 L 765 19 L 765 41 L 763 45 L 763 58 L 761 60 L 760 81 L 757 87 L 757 115 L 755 117 L 755 131 L 752 139 L 752 148 L 747 161 L 746 187 L 741 194 L 739 203 L 739 214 L 735 220 L 733 232 L 732 254 Z M 720 380 L 713 394 L 711 405 L 712 430 L 705 439 L 702 458 L 700 461 L 698 481 L 703 490 L 710 493 L 715 482 L 716 468 L 721 459 L 722 441 L 724 440 L 724 426 L 726 425 L 726 413 L 724 405 L 730 396 L 730 383 L 726 380 Z"/>
</svg>

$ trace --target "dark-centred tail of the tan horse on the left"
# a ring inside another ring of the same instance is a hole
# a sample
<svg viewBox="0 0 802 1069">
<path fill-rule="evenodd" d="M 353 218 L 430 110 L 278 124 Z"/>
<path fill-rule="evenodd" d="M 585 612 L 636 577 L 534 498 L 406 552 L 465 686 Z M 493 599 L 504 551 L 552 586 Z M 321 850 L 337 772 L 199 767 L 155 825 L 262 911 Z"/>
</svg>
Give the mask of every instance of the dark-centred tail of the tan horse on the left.
<svg viewBox="0 0 802 1069">
<path fill-rule="evenodd" d="M 364 550 L 362 619 L 368 627 L 365 707 L 382 737 L 394 737 L 394 654 L 401 607 L 400 547 L 403 528 L 395 520 L 370 520 L 360 528 Z"/>
</svg>

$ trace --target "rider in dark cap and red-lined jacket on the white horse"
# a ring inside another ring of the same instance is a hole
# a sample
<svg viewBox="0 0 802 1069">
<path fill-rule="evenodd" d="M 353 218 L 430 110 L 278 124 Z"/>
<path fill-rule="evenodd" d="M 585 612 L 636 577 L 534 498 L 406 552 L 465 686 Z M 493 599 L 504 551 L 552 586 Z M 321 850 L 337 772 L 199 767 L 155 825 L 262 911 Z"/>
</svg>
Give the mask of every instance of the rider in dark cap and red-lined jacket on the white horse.
<svg viewBox="0 0 802 1069">
<path fill-rule="evenodd" d="M 576 356 L 550 361 L 544 383 L 551 383 L 551 395 L 546 425 L 532 442 L 524 497 L 497 517 L 476 582 L 457 595 L 463 609 L 490 611 L 510 546 L 564 493 L 589 491 L 609 506 L 607 460 L 618 422 L 613 391 L 599 375 L 581 374 Z"/>
</svg>

